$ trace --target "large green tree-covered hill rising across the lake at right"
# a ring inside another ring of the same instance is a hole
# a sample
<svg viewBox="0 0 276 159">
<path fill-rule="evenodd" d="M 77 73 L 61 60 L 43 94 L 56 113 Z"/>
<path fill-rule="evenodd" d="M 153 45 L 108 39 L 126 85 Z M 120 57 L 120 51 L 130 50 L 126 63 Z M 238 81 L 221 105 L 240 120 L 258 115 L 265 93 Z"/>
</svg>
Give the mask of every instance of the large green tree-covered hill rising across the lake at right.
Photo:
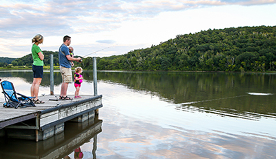
<svg viewBox="0 0 276 159">
<path fill-rule="evenodd" d="M 97 58 L 98 70 L 275 71 L 276 26 L 204 30 L 150 48 Z M 92 68 L 90 57 L 83 60 Z"/>
</svg>

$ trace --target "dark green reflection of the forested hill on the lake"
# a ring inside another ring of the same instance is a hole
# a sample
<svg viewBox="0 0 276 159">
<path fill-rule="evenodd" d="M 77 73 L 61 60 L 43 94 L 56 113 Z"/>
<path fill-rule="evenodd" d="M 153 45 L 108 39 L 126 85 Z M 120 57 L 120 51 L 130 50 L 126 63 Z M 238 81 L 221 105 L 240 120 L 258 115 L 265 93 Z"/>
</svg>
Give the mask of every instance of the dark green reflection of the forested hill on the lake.
<svg viewBox="0 0 276 159">
<path fill-rule="evenodd" d="M 233 114 L 230 110 L 276 113 L 276 82 L 273 82 L 276 74 L 102 72 L 98 75 L 100 80 L 158 95 L 177 107 L 185 105 L 182 110 L 190 105 L 214 113 Z M 254 91 L 258 93 L 250 93 Z"/>
</svg>

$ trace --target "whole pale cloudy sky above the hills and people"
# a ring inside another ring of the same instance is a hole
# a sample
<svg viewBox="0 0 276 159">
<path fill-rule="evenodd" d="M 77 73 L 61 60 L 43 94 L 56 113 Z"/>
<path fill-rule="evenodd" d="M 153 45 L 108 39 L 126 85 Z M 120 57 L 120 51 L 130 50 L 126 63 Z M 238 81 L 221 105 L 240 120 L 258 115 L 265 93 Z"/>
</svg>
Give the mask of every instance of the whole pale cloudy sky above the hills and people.
<svg viewBox="0 0 276 159">
<path fill-rule="evenodd" d="M 276 0 L 1 0 L 0 57 L 57 51 L 64 35 L 75 55 L 108 57 L 177 35 L 240 26 L 276 26 Z"/>
</svg>

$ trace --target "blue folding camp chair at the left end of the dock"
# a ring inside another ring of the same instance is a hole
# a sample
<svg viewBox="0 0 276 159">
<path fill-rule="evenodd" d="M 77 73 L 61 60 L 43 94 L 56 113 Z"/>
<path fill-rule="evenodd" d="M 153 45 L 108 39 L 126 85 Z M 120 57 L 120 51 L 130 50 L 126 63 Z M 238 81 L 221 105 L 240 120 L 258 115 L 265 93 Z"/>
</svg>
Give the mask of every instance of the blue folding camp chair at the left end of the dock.
<svg viewBox="0 0 276 159">
<path fill-rule="evenodd" d="M 26 95 L 17 93 L 12 82 L 3 81 L 1 82 L 1 86 L 3 89 L 2 93 L 4 94 L 6 101 L 6 103 L 3 104 L 4 107 L 14 107 L 17 109 L 18 106 L 21 106 L 21 108 L 35 106 L 34 102 L 32 102 L 32 98 L 34 97 L 27 97 Z"/>
</svg>

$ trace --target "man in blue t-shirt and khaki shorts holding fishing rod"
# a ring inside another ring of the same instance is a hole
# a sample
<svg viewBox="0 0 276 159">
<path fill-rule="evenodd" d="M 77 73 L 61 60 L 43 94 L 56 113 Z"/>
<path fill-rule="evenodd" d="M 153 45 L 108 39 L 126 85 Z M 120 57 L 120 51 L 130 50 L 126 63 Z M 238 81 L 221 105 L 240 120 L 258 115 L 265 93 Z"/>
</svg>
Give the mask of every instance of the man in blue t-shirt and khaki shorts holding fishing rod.
<svg viewBox="0 0 276 159">
<path fill-rule="evenodd" d="M 63 44 L 59 48 L 59 65 L 62 76 L 61 94 L 59 95 L 59 100 L 72 100 L 71 97 L 67 96 L 68 84 L 72 82 L 71 61 L 79 62 L 81 60 L 81 57 L 74 58 L 70 56 L 68 48 L 70 44 L 71 37 L 66 35 L 63 37 Z"/>
</svg>

